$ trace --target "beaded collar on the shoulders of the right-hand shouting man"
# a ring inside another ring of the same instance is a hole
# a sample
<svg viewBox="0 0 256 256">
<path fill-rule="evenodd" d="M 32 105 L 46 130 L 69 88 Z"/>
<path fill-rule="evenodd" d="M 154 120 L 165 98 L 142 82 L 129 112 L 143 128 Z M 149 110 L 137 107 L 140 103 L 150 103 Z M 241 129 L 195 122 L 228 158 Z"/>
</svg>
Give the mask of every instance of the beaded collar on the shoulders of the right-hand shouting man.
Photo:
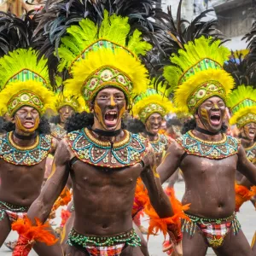
<svg viewBox="0 0 256 256">
<path fill-rule="evenodd" d="M 176 141 L 184 148 L 187 154 L 195 154 L 214 160 L 224 159 L 236 154 L 240 145 L 235 137 L 226 136 L 225 134 L 221 141 L 208 142 L 195 137 L 191 131 L 183 134 Z"/>
</svg>

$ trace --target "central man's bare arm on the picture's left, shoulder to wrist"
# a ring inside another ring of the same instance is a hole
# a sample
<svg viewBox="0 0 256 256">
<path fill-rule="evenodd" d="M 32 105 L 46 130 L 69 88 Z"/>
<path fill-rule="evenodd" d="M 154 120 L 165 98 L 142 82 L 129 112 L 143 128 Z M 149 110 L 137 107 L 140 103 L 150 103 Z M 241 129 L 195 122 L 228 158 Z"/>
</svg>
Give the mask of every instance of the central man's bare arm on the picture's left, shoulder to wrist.
<svg viewBox="0 0 256 256">
<path fill-rule="evenodd" d="M 61 191 L 67 183 L 70 159 L 71 153 L 69 152 L 67 142 L 64 139 L 59 143 L 59 146 L 56 149 L 52 171 L 44 184 L 44 188 L 38 196 L 38 199 L 32 203 L 32 206 L 27 212 L 27 217 L 32 221 L 34 221 L 35 218 L 39 218 L 39 220 L 44 223 L 49 217 L 51 208 L 58 196 L 61 195 Z"/>
</svg>

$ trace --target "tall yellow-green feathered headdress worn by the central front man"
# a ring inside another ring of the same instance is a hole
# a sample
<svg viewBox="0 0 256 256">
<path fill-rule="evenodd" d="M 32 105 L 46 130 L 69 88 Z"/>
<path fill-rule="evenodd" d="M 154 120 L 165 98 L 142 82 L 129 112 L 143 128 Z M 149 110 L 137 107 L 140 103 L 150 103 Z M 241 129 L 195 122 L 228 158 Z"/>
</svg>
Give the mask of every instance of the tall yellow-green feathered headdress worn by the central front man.
<svg viewBox="0 0 256 256">
<path fill-rule="evenodd" d="M 101 27 L 84 19 L 61 39 L 60 67 L 67 67 L 73 76 L 65 86 L 84 96 L 87 106 L 106 86 L 122 90 L 129 103 L 147 89 L 148 71 L 138 55 L 145 55 L 151 45 L 143 41 L 141 32 L 130 34 L 130 29 L 127 17 L 109 17 L 105 11 Z"/>
</svg>

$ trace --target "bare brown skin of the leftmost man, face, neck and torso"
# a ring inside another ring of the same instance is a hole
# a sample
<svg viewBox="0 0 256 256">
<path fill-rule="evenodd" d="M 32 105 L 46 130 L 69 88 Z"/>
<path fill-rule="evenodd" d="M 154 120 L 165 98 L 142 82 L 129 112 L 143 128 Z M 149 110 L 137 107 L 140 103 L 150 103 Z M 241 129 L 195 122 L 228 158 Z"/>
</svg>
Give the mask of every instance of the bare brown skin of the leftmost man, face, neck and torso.
<svg viewBox="0 0 256 256">
<path fill-rule="evenodd" d="M 39 114 L 34 108 L 22 107 L 15 113 L 15 117 L 12 120 L 17 119 L 19 119 L 19 125 L 16 126 L 15 121 L 15 131 L 23 136 L 25 134 L 29 135 L 35 131 L 35 127 L 38 127 L 37 120 L 39 119 Z M 32 128 L 30 128 L 29 131 L 26 130 L 26 127 L 20 126 L 25 123 L 31 124 Z M 35 143 L 35 138 L 22 140 L 15 137 L 15 135 L 13 135 L 12 138 L 19 147 L 29 147 Z M 51 148 L 51 152 L 54 152 L 55 143 L 53 142 L 52 145 L 53 148 Z M 15 166 L 14 164 L 0 159 L 0 201 L 20 207 L 30 207 L 32 202 L 35 201 L 40 194 L 41 186 L 44 181 L 45 162 L 46 158 L 35 166 Z M 0 221 L 0 230 L 1 247 L 11 230 L 9 218 L 6 216 Z M 44 244 L 38 244 L 35 250 L 38 255 L 57 255 L 54 254 L 55 246 L 49 247 L 48 249 Z M 60 247 L 57 250 L 59 251 Z"/>
</svg>

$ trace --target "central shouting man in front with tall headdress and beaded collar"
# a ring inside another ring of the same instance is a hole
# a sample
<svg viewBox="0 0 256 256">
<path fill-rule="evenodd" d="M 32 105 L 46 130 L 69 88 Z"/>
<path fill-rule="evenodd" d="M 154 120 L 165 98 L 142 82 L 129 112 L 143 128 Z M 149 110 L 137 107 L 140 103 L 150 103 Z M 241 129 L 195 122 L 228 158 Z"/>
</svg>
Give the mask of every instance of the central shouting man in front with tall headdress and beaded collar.
<svg viewBox="0 0 256 256">
<path fill-rule="evenodd" d="M 83 30 L 89 26 L 91 42 L 85 37 L 88 31 Z M 119 37 L 113 38 L 116 34 Z M 55 153 L 51 176 L 28 217 L 46 220 L 70 174 L 75 218 L 66 255 L 143 255 L 131 218 L 137 177 L 142 177 L 160 218 L 173 214 L 155 172 L 153 148 L 144 137 L 121 129 L 131 95 L 146 90 L 148 84 L 147 70 L 136 56 L 151 47 L 139 34 L 137 30 L 130 33 L 128 19 L 108 16 L 105 11 L 102 27 L 82 19 L 61 40 L 59 53 L 73 75 L 65 86 L 84 96 L 91 114 L 77 114 L 70 121 L 70 132 Z M 79 55 L 74 54 L 78 47 L 71 49 L 70 42 L 79 45 Z M 78 57 L 72 61 L 74 56 Z M 20 236 L 25 234 L 20 232 Z M 26 242 L 30 242 L 28 237 Z"/>
</svg>

